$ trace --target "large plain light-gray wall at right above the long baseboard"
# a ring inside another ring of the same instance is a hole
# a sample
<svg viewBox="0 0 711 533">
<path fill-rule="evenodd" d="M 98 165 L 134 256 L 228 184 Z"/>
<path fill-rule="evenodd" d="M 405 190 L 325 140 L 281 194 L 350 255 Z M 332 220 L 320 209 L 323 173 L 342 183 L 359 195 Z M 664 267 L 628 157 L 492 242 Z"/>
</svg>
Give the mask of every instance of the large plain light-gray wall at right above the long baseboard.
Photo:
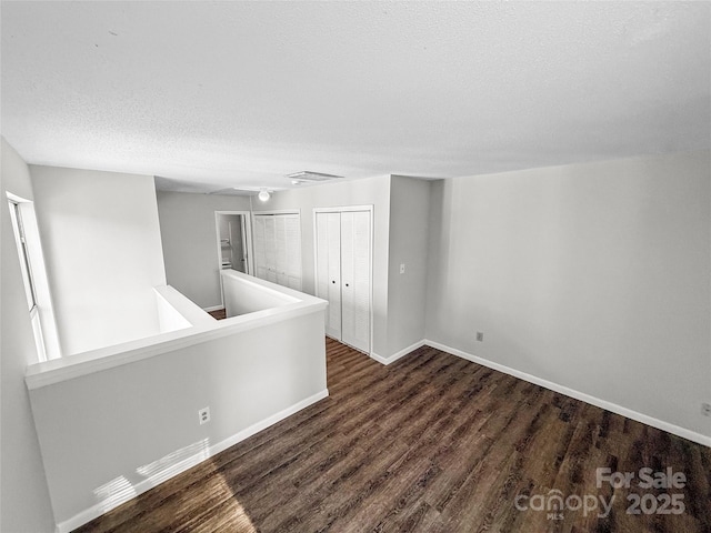
<svg viewBox="0 0 711 533">
<path fill-rule="evenodd" d="M 711 435 L 710 160 L 434 184 L 428 339 Z"/>
</svg>

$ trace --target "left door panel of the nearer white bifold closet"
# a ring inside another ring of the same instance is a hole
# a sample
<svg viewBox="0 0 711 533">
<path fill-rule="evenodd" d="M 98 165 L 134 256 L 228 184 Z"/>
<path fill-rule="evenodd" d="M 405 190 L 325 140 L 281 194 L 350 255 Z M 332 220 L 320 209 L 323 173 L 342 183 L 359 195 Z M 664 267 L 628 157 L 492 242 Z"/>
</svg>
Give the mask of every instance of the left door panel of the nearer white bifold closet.
<svg viewBox="0 0 711 533">
<path fill-rule="evenodd" d="M 326 334 L 341 340 L 341 213 L 317 213 L 317 295 L 328 300 Z"/>
</svg>

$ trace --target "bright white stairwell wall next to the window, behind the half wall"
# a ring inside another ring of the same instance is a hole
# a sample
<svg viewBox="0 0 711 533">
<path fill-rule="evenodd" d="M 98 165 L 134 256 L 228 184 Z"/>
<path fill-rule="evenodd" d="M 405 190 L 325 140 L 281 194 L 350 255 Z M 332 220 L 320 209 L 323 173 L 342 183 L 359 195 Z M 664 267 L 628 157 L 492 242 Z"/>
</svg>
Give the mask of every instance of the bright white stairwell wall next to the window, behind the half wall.
<svg viewBox="0 0 711 533">
<path fill-rule="evenodd" d="M 166 284 L 153 178 L 30 167 L 62 353 L 159 331 Z"/>
</svg>

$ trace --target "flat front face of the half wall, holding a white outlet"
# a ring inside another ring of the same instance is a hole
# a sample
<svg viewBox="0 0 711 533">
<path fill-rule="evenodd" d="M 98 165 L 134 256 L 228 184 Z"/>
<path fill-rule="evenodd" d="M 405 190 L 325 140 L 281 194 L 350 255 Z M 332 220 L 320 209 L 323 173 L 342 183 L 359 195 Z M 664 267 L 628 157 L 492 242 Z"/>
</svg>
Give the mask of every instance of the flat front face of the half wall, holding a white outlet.
<svg viewBox="0 0 711 533">
<path fill-rule="evenodd" d="M 269 322 L 31 391 L 62 530 L 326 395 L 323 308 Z"/>
</svg>

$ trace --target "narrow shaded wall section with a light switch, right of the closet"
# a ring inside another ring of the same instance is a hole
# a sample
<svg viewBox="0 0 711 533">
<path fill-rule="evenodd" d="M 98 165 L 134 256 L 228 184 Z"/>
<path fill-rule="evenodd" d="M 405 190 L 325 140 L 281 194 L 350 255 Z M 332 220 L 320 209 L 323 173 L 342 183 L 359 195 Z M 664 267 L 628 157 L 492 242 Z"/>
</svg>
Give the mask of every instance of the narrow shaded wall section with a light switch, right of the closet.
<svg viewBox="0 0 711 533">
<path fill-rule="evenodd" d="M 388 355 L 424 339 L 431 187 L 414 178 L 390 179 Z"/>
</svg>

